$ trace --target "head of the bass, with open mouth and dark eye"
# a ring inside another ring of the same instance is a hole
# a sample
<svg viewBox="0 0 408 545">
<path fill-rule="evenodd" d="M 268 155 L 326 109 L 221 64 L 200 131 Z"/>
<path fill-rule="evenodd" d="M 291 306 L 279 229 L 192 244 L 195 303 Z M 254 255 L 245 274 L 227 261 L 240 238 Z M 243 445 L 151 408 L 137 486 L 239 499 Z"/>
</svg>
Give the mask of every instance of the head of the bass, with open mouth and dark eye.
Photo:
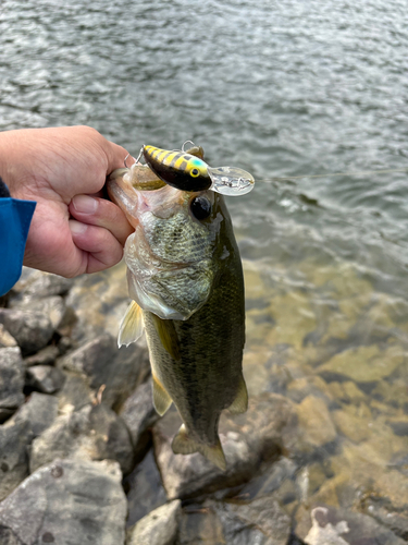
<svg viewBox="0 0 408 545">
<path fill-rule="evenodd" d="M 161 182 L 145 191 L 124 170 L 111 175 L 108 192 L 135 228 L 124 250 L 129 295 L 163 319 L 188 319 L 208 300 L 228 256 L 221 244 L 231 221 L 223 197 Z"/>
</svg>

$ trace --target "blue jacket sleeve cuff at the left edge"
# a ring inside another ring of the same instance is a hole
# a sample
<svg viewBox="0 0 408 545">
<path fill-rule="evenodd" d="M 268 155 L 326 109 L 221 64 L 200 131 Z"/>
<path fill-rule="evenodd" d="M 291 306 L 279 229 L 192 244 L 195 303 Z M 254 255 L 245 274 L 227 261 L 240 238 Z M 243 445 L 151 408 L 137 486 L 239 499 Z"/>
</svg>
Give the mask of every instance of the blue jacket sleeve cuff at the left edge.
<svg viewBox="0 0 408 545">
<path fill-rule="evenodd" d="M 10 196 L 0 178 L 0 295 L 18 280 L 25 243 L 36 203 Z"/>
</svg>

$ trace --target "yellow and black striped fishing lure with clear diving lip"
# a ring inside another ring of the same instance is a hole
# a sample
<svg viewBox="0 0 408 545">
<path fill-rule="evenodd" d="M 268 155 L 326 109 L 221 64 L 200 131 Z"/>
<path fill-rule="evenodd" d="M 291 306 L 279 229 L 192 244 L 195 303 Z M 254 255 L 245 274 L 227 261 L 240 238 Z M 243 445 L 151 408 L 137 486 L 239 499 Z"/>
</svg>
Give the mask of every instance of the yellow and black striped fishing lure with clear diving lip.
<svg viewBox="0 0 408 545">
<path fill-rule="evenodd" d="M 145 161 L 154 174 L 177 190 L 212 190 L 223 195 L 244 195 L 254 187 L 255 180 L 249 172 L 235 167 L 211 168 L 188 152 L 193 149 L 170 152 L 148 145 L 141 148 Z"/>
</svg>

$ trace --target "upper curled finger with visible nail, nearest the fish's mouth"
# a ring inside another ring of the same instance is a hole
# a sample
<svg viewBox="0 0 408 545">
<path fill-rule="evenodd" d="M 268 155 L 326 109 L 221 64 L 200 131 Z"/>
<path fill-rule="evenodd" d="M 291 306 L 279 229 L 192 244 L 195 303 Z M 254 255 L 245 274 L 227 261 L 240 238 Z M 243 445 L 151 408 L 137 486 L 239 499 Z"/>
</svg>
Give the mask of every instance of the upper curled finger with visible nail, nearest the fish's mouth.
<svg viewBox="0 0 408 545">
<path fill-rule="evenodd" d="M 70 213 L 82 223 L 108 229 L 122 245 L 134 231 L 123 211 L 104 198 L 75 195 L 70 203 Z"/>
</svg>

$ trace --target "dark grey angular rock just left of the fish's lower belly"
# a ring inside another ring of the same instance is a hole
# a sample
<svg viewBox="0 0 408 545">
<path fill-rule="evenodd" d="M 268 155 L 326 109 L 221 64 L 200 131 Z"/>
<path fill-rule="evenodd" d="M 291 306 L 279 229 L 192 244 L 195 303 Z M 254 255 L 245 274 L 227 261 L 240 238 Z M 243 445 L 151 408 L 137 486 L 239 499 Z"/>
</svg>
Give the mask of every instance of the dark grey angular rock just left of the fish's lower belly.
<svg viewBox="0 0 408 545">
<path fill-rule="evenodd" d="M 146 349 L 136 343 L 118 349 L 116 340 L 110 335 L 64 355 L 58 366 L 82 373 L 96 391 L 104 385 L 103 401 L 114 408 L 119 408 L 150 372 Z"/>
</svg>

